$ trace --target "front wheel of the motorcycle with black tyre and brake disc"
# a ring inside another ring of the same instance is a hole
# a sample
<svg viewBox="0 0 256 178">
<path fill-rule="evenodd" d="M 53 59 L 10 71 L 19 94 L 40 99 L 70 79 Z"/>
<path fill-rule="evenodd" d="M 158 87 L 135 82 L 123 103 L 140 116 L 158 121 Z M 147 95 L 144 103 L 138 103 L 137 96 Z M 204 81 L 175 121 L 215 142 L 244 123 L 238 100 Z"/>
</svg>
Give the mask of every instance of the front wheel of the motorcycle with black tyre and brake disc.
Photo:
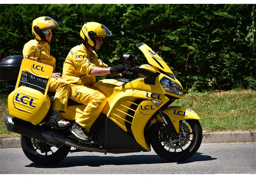
<svg viewBox="0 0 256 178">
<path fill-rule="evenodd" d="M 168 133 L 162 124 L 150 127 L 151 146 L 157 155 L 171 162 L 193 156 L 202 142 L 202 128 L 198 120 L 181 120 L 178 134 Z"/>
</svg>

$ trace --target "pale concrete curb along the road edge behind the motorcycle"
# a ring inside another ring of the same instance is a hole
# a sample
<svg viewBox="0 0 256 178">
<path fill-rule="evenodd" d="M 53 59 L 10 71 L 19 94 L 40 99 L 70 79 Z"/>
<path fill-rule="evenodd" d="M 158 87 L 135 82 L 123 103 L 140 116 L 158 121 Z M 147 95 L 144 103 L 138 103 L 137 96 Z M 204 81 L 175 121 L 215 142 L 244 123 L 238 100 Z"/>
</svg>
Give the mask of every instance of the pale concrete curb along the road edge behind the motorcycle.
<svg viewBox="0 0 256 178">
<path fill-rule="evenodd" d="M 256 142 L 256 132 L 203 132 L 202 143 Z M 20 138 L 0 139 L 0 148 L 21 148 Z"/>
</svg>

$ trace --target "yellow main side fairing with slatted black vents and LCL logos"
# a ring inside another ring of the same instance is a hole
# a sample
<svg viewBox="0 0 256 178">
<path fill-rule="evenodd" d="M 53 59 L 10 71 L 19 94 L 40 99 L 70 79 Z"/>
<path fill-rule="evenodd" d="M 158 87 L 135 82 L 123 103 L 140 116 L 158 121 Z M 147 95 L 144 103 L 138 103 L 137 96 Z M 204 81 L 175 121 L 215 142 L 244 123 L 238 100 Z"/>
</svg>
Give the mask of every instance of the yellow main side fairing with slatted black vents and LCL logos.
<svg viewBox="0 0 256 178">
<path fill-rule="evenodd" d="M 159 81 L 163 76 L 164 74 L 160 74 L 155 80 Z M 114 81 L 108 80 L 99 81 L 107 85 L 101 90 L 107 97 L 107 104 L 102 113 L 106 114 L 123 131 L 133 134 L 135 140 L 144 149 L 150 151 L 144 137 L 144 127 L 151 116 L 169 101 L 169 98 L 164 95 L 166 91 L 164 91 L 160 82 L 156 82 L 155 85 L 145 84 L 143 78 L 122 85 L 116 85 Z M 95 83 L 93 87 L 100 89 L 98 84 L 98 82 Z M 170 95 L 182 98 L 182 96 L 175 94 L 170 93 Z M 138 99 L 141 102 L 135 102 Z M 162 103 L 156 106 L 151 100 Z"/>
</svg>

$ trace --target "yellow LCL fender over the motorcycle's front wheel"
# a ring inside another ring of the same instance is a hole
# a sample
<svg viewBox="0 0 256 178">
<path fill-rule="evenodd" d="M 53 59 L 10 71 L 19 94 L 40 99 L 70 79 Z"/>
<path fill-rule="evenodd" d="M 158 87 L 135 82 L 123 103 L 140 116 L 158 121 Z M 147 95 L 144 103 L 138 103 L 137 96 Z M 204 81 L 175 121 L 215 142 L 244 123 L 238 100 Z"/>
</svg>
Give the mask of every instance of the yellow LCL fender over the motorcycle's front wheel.
<svg viewBox="0 0 256 178">
<path fill-rule="evenodd" d="M 163 110 L 163 115 L 166 119 L 170 119 L 171 123 L 177 133 L 179 133 L 180 127 L 180 120 L 187 120 L 187 119 L 196 119 L 200 120 L 201 118 L 191 109 L 181 106 L 170 106 Z M 163 119 L 157 115 L 157 120 L 163 122 Z M 151 125 L 154 124 L 156 121 L 155 119 L 152 121 Z M 151 126 L 150 125 L 150 126 Z"/>
</svg>

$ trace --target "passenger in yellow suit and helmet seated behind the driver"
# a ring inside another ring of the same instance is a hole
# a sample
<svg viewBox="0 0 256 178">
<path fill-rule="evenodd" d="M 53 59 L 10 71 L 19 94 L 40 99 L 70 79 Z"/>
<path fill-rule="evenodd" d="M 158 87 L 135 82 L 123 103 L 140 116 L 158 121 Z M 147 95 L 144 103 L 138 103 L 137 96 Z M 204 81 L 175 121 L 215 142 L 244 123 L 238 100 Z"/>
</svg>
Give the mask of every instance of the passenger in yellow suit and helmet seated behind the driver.
<svg viewBox="0 0 256 178">
<path fill-rule="evenodd" d="M 55 39 L 55 28 L 58 23 L 51 17 L 38 17 L 32 23 L 32 34 L 35 39 L 27 42 L 23 47 L 23 58 L 41 62 L 53 67 L 55 70 L 56 59 L 50 55 L 50 43 Z M 49 125 L 60 127 L 70 126 L 71 123 L 61 118 L 60 112 L 66 112 L 67 101 L 70 94 L 70 85 L 61 76 L 61 73 L 52 73 L 48 91 L 56 91 L 52 116 Z"/>
</svg>

